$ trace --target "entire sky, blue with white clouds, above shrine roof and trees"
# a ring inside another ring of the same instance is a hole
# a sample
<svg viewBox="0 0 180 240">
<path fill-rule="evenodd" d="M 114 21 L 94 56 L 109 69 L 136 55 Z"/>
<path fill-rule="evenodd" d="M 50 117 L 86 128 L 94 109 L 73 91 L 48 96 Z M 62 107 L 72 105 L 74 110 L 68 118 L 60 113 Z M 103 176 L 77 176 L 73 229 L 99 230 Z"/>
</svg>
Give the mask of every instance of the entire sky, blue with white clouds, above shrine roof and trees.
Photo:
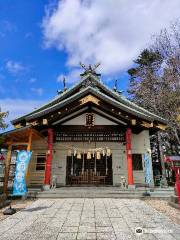
<svg viewBox="0 0 180 240">
<path fill-rule="evenodd" d="M 178 0 L 1 0 L 0 107 L 8 121 L 53 98 L 63 75 L 69 86 L 78 81 L 79 61 L 101 62 L 103 81 L 118 79 L 125 91 L 133 59 L 179 9 Z"/>
</svg>

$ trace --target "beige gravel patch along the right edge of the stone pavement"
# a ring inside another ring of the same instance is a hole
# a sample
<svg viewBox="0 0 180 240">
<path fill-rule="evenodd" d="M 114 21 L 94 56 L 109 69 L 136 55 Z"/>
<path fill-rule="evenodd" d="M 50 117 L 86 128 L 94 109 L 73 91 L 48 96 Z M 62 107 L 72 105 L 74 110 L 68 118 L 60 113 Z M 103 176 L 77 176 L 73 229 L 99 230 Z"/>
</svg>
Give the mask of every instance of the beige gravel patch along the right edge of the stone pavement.
<svg viewBox="0 0 180 240">
<path fill-rule="evenodd" d="M 158 212 L 169 217 L 174 223 L 180 225 L 180 210 L 169 206 L 167 201 L 149 199 L 145 200 L 145 202 L 155 208 Z"/>
</svg>

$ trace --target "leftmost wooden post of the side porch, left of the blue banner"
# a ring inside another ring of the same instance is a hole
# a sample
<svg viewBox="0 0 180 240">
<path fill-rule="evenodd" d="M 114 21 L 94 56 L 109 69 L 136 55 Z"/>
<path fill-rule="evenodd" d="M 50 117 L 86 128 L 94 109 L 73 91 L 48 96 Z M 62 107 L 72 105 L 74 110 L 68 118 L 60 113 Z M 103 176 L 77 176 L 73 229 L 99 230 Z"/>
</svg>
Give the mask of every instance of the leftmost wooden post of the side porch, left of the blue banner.
<svg viewBox="0 0 180 240">
<path fill-rule="evenodd" d="M 8 180 L 9 180 L 9 171 L 11 164 L 11 154 L 12 154 L 12 144 L 8 146 L 8 152 L 5 160 L 5 172 L 4 172 L 4 193 L 8 195 Z"/>
</svg>

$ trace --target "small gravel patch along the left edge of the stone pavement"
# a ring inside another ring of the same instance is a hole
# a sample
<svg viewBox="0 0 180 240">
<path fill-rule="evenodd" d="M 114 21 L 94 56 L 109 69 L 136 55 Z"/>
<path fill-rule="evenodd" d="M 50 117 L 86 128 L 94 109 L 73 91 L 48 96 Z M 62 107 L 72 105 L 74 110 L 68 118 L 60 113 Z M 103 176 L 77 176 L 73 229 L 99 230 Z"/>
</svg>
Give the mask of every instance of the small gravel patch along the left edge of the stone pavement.
<svg viewBox="0 0 180 240">
<path fill-rule="evenodd" d="M 12 200 L 12 208 L 15 208 L 17 212 L 21 211 L 22 209 L 26 208 L 29 204 L 31 204 L 33 201 L 31 200 Z M 8 215 L 4 215 L 4 210 L 8 207 L 4 207 L 0 209 L 0 221 L 9 217 Z"/>
</svg>

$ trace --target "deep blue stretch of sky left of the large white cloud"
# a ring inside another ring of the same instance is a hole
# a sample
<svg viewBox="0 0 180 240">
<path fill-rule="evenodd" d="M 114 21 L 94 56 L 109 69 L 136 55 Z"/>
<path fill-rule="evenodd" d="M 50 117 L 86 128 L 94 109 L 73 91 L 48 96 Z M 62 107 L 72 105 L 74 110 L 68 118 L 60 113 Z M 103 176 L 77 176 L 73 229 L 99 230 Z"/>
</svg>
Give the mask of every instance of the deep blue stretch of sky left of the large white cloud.
<svg viewBox="0 0 180 240">
<path fill-rule="evenodd" d="M 48 99 L 60 87 L 56 79 L 60 73 L 66 73 L 66 54 L 43 48 L 41 22 L 47 3 L 0 2 L 1 98 Z M 9 69 L 8 62 L 12 63 Z M 17 71 L 13 70 L 15 63 L 20 66 Z"/>
</svg>

